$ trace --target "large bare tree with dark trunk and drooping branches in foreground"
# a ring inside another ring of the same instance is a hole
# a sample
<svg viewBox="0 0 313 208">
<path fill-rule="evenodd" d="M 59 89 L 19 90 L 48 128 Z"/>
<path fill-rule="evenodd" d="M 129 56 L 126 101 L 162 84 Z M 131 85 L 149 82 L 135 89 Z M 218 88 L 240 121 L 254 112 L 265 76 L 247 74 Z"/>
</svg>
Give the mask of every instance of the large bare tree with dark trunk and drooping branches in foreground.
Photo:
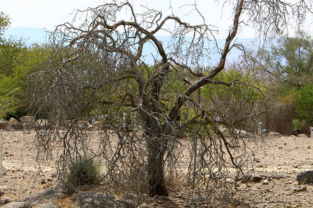
<svg viewBox="0 0 313 208">
<path fill-rule="evenodd" d="M 35 96 L 30 98 L 35 112 L 51 124 L 58 126 L 66 119 L 74 120 L 66 132 L 59 128 L 39 131 L 39 152 L 49 154 L 54 146 L 63 148 L 58 171 L 64 175 L 70 161 L 90 153 L 86 145 L 88 132 L 76 125 L 77 119 L 102 119 L 115 134 L 104 131 L 99 138 L 101 149 L 93 154 L 103 158 L 104 184 L 108 189 L 168 196 L 166 178 L 175 179 L 181 149 L 177 132 L 197 124 L 195 133 L 201 142 L 191 146 L 199 154 L 190 156 L 197 166 L 193 175 L 199 188 L 196 190 L 206 196 L 208 203 L 227 200 L 232 186 L 226 182 L 226 160 L 230 157 L 230 164 L 239 171 L 244 150 L 232 150 L 230 146 L 238 146 L 243 140 L 226 141 L 217 125 L 234 123 L 227 118 L 216 119 L 210 108 L 197 103 L 195 92 L 205 85 L 234 86 L 234 80 L 227 83 L 216 76 L 225 69 L 227 54 L 241 24 L 252 21 L 265 35 L 281 33 L 288 21 L 286 12 L 293 14 L 298 8 L 306 11 L 303 1 L 232 3 L 233 23 L 220 50 L 220 61 L 203 73 L 196 69 L 211 51 L 204 43 L 215 40 L 214 31 L 204 20 L 191 25 L 174 15 L 163 17 L 150 8 L 137 14 L 128 1 L 112 1 L 82 14 L 78 12 L 86 17 L 79 26 L 58 26 L 51 36 L 51 62 L 33 74 L 31 89 L 35 92 L 29 91 Z M 193 10 L 193 15 L 202 19 L 197 11 Z M 243 15 L 248 15 L 247 21 Z M 297 17 L 303 18 L 302 14 Z M 158 40 L 160 31 L 168 31 L 172 37 L 167 46 Z M 152 44 L 156 50 L 153 67 L 145 63 L 145 44 Z M 185 85 L 186 78 L 192 80 Z M 190 106 L 200 107 L 200 113 L 191 112 Z M 185 116 L 186 112 L 194 116 Z M 253 119 L 256 114 L 243 119 Z M 182 120 L 183 117 L 188 119 Z M 239 154 L 236 159 L 232 157 L 234 151 Z"/>
</svg>

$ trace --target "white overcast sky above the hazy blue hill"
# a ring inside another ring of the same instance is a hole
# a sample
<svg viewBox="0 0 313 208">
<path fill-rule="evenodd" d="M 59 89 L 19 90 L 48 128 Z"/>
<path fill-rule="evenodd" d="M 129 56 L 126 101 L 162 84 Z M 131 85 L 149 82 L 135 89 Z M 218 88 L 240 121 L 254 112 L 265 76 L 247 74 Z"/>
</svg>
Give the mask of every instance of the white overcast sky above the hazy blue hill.
<svg viewBox="0 0 313 208">
<path fill-rule="evenodd" d="M 0 0 L 0 12 L 9 15 L 10 28 L 35 27 L 53 30 L 58 24 L 71 21 L 73 10 L 93 8 L 104 2 L 110 2 L 110 0 Z M 143 5 L 161 10 L 165 13 L 164 15 L 170 15 L 173 11 L 175 15 L 191 24 L 202 23 L 195 13 L 187 15 L 191 7 L 184 5 L 193 3 L 194 0 L 131 0 L 131 2 L 134 3 L 135 12 L 143 10 L 141 7 Z M 232 6 L 226 4 L 222 15 L 222 5 L 216 5 L 216 0 L 198 0 L 197 2 L 198 9 L 206 19 L 206 24 L 216 26 L 219 31 L 218 38 L 225 38 L 232 23 L 232 10 L 230 10 Z M 239 37 L 254 37 L 249 26 L 241 29 Z M 310 31 L 310 28 L 308 30 Z"/>
</svg>

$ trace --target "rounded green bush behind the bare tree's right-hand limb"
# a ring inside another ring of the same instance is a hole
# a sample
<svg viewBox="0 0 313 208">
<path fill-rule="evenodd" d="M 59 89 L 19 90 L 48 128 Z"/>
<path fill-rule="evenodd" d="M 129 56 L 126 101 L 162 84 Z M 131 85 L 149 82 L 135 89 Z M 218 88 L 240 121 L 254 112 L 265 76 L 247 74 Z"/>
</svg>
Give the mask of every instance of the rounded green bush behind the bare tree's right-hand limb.
<svg viewBox="0 0 313 208">
<path fill-rule="evenodd" d="M 209 72 L 207 72 L 209 73 Z M 224 83 L 221 84 L 221 83 Z M 220 83 L 220 84 L 217 84 Z M 216 76 L 216 84 L 204 85 L 200 89 L 200 105 L 210 109 L 211 116 L 227 123 L 252 114 L 255 108 L 261 110 L 262 100 L 266 89 L 264 84 L 250 76 L 244 69 L 228 69 Z M 197 94 L 193 96 L 193 105 L 186 105 L 182 109 L 182 121 L 190 121 L 195 117 Z M 200 112 L 201 113 L 201 112 Z M 252 128 L 253 123 L 240 123 L 240 128 Z M 213 127 L 210 127 L 213 128 Z M 208 128 L 207 131 L 211 131 Z M 239 126 L 236 126 L 239 128 Z M 190 125 L 184 130 L 186 134 L 194 134 L 196 125 Z M 183 137 L 182 133 L 179 135 Z"/>
</svg>

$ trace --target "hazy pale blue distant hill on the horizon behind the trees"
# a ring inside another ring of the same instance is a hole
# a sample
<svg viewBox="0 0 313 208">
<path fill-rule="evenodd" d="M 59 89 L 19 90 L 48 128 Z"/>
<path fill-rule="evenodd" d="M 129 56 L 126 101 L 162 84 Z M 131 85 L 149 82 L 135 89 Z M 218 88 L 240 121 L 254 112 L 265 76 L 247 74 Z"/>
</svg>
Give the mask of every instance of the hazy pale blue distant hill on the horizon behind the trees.
<svg viewBox="0 0 313 208">
<path fill-rule="evenodd" d="M 15 37 L 20 38 L 22 37 L 27 44 L 45 44 L 47 43 L 47 31 L 44 28 L 8 28 L 8 30 L 4 33 L 4 37 Z M 158 39 L 163 42 L 163 44 L 166 44 L 170 41 L 170 37 L 158 37 Z M 250 47 L 253 46 L 251 43 L 253 39 L 237 39 L 236 43 L 241 43 L 244 46 L 250 45 Z M 223 44 L 225 43 L 225 40 L 219 39 L 217 40 L 218 46 L 223 48 Z M 241 53 L 238 49 L 233 49 L 228 57 L 228 61 L 232 62 L 233 60 L 236 60 L 239 56 L 239 53 Z M 152 54 L 152 55 L 151 55 Z M 156 57 L 155 48 L 152 44 L 146 44 L 143 49 L 143 55 L 145 55 L 145 61 L 147 64 L 154 64 L 153 57 Z M 220 55 L 215 53 L 211 55 L 211 61 L 207 65 L 214 65 L 216 62 L 218 62 L 220 58 Z"/>
</svg>

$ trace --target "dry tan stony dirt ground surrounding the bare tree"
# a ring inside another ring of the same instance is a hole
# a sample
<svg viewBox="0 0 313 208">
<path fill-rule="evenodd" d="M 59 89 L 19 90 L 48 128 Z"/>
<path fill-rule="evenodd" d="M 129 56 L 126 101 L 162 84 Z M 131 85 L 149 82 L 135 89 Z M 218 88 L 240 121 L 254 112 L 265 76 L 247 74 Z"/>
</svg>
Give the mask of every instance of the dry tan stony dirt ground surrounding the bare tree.
<svg viewBox="0 0 313 208">
<path fill-rule="evenodd" d="M 54 185 L 54 164 L 38 165 L 34 139 L 33 130 L 3 132 L 1 200 L 17 200 Z M 250 147 L 255 153 L 252 174 L 261 176 L 263 181 L 239 182 L 237 207 L 313 207 L 313 185 L 298 187 L 296 180 L 299 173 L 313 170 L 312 138 L 266 137 Z M 172 207 L 188 205 L 176 196 L 177 193 L 171 193 L 170 200 L 175 202 Z M 150 205 L 167 207 L 156 200 L 151 200 Z"/>
</svg>

